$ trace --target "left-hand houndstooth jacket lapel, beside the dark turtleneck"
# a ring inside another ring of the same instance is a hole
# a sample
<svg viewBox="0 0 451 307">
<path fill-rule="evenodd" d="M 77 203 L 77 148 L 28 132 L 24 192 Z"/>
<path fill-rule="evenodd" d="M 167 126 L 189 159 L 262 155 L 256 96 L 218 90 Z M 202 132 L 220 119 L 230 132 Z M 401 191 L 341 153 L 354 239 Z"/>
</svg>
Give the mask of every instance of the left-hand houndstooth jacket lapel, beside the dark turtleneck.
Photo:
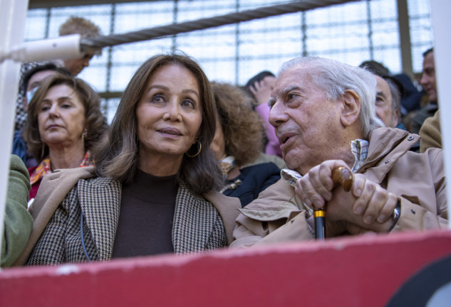
<svg viewBox="0 0 451 307">
<path fill-rule="evenodd" d="M 99 260 L 111 259 L 118 228 L 122 185 L 109 177 L 78 181 L 78 200 Z"/>
</svg>

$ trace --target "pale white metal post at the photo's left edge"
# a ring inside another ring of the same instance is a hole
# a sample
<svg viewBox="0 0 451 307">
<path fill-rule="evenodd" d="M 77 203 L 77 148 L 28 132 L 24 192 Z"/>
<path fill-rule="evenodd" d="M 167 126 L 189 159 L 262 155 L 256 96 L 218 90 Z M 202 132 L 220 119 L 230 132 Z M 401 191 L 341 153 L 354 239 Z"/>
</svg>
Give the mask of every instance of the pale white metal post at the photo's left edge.
<svg viewBox="0 0 451 307">
<path fill-rule="evenodd" d="M 9 50 L 24 41 L 28 0 L 0 0 L 0 50 Z M 0 246 L 4 237 L 6 187 L 14 130 L 14 113 L 19 83 L 20 63 L 5 60 L 0 63 Z M 1 254 L 0 254 L 1 257 Z M 0 259 L 1 260 L 1 259 Z"/>
</svg>

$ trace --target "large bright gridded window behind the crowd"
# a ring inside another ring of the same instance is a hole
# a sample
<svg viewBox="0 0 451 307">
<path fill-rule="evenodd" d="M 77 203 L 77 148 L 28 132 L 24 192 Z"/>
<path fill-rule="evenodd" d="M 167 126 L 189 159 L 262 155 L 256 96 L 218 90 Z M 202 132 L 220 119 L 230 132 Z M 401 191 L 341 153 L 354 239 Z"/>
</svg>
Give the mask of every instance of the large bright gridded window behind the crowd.
<svg viewBox="0 0 451 307">
<path fill-rule="evenodd" d="M 285 0 L 178 0 L 68 6 L 28 10 L 26 41 L 58 36 L 70 16 L 83 16 L 104 35 L 196 21 L 237 11 L 286 3 Z M 429 0 L 408 0 L 414 72 L 432 46 Z M 377 60 L 391 72 L 402 70 L 397 0 L 356 1 L 239 24 L 180 33 L 104 48 L 79 75 L 99 92 L 122 92 L 150 56 L 180 50 L 195 58 L 211 80 L 244 85 L 261 70 L 277 72 L 285 60 L 319 55 L 359 65 Z M 110 96 L 108 96 L 110 97 Z M 105 100 L 112 118 L 118 101 Z M 113 109 L 112 109 L 113 108 Z"/>
</svg>

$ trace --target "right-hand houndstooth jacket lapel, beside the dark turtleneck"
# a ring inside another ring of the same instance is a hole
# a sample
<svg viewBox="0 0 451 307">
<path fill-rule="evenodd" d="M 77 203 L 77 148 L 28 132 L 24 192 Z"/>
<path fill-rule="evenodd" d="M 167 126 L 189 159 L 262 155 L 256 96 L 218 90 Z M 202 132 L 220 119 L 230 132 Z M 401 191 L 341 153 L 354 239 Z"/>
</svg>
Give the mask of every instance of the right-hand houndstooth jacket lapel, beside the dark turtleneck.
<svg viewBox="0 0 451 307">
<path fill-rule="evenodd" d="M 218 212 L 214 206 L 192 195 L 180 184 L 175 200 L 172 244 L 175 254 L 199 252 L 205 249 Z"/>
</svg>

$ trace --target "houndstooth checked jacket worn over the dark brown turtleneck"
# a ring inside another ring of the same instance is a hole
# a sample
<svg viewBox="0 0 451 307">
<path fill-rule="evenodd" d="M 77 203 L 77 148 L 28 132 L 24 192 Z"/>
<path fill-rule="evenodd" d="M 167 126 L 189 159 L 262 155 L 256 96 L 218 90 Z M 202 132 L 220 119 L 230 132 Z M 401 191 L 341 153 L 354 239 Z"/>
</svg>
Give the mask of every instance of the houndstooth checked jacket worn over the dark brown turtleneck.
<svg viewBox="0 0 451 307">
<path fill-rule="evenodd" d="M 27 264 L 85 262 L 81 244 L 81 210 L 83 210 L 83 237 L 90 259 L 109 260 L 118 227 L 121 195 L 122 185 L 113 178 L 80 179 L 56 208 L 34 245 Z M 226 211 L 232 212 L 233 221 L 238 215 L 239 200 L 224 195 L 216 195 L 213 198 L 215 197 L 217 200 L 222 199 L 223 204 L 219 205 L 222 208 L 218 208 L 203 197 L 192 195 L 185 185 L 180 185 L 172 227 L 172 243 L 176 254 L 217 249 L 227 246 L 228 241 L 230 242 L 225 228 L 230 230 L 233 225 L 224 225 L 222 219 L 224 200 L 225 203 L 229 203 Z M 222 211 L 222 214 L 218 210 Z M 230 217 L 226 217 L 225 220 L 230 224 Z"/>
</svg>

